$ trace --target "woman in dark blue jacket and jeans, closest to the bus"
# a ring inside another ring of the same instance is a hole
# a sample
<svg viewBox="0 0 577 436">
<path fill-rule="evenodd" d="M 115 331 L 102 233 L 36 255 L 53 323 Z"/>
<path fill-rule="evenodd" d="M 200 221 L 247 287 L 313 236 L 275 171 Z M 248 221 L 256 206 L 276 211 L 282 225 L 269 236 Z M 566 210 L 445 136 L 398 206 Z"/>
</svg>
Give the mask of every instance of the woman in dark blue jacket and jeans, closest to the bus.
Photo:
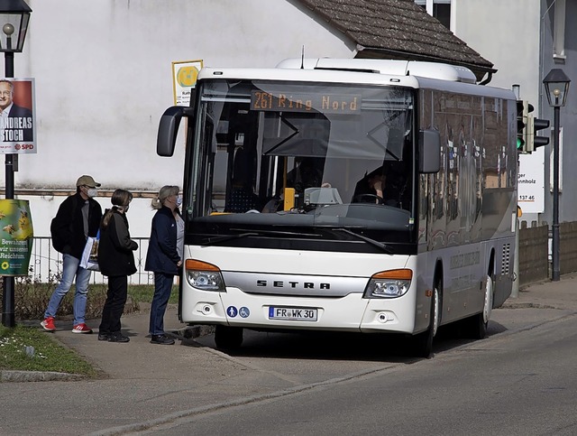
<svg viewBox="0 0 577 436">
<path fill-rule="evenodd" d="M 179 206 L 182 198 L 178 186 L 163 186 L 157 198 L 152 199 L 151 239 L 144 269 L 154 273 L 154 297 L 151 304 L 151 343 L 172 345 L 174 339 L 164 331 L 164 313 L 169 303 L 174 276 L 182 265 L 184 226 L 180 226 Z M 184 222 L 182 222 L 184 224 Z"/>
</svg>

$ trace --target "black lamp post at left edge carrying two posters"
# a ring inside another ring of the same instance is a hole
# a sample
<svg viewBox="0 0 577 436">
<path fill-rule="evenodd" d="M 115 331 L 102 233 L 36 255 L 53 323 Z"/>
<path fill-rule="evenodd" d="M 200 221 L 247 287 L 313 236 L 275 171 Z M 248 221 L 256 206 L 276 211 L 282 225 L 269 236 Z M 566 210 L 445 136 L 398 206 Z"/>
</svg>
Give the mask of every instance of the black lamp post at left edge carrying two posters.
<svg viewBox="0 0 577 436">
<path fill-rule="evenodd" d="M 32 9 L 24 0 L 0 2 L 0 52 L 5 56 L 5 77 L 14 78 L 14 53 L 21 52 Z M 14 154 L 5 156 L 5 196 L 14 199 Z M 14 276 L 4 277 L 2 324 L 14 327 Z"/>
</svg>

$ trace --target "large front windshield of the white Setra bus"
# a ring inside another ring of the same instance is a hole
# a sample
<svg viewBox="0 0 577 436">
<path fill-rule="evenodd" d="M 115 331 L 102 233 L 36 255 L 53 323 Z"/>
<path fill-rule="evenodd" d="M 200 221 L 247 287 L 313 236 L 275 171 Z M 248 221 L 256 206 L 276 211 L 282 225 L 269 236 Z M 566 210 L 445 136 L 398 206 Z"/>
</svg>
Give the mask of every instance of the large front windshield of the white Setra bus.
<svg viewBox="0 0 577 436">
<path fill-rule="evenodd" d="M 415 240 L 413 89 L 214 79 L 197 95 L 189 234 Z"/>
</svg>

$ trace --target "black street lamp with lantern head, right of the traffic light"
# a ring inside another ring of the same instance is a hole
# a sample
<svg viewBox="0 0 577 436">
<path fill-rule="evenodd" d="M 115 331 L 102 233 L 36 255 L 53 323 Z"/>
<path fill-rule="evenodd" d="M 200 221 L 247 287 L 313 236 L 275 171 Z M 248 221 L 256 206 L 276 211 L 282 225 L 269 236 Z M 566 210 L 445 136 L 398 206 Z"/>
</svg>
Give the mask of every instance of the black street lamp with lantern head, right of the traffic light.
<svg viewBox="0 0 577 436">
<path fill-rule="evenodd" d="M 554 141 L 553 141 L 553 244 L 551 246 L 553 271 L 551 279 L 559 281 L 559 114 L 565 106 L 569 83 L 563 70 L 553 69 L 543 79 L 549 106 L 554 108 Z"/>
</svg>

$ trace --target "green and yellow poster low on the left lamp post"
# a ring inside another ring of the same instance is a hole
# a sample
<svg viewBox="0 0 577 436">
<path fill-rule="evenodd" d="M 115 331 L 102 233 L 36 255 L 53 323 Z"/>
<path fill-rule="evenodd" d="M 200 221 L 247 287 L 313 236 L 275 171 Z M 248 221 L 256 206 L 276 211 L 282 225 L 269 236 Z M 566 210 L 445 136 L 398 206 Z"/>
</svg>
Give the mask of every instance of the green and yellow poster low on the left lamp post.
<svg viewBox="0 0 577 436">
<path fill-rule="evenodd" d="M 0 199 L 0 275 L 28 275 L 34 231 L 26 199 Z"/>
</svg>

